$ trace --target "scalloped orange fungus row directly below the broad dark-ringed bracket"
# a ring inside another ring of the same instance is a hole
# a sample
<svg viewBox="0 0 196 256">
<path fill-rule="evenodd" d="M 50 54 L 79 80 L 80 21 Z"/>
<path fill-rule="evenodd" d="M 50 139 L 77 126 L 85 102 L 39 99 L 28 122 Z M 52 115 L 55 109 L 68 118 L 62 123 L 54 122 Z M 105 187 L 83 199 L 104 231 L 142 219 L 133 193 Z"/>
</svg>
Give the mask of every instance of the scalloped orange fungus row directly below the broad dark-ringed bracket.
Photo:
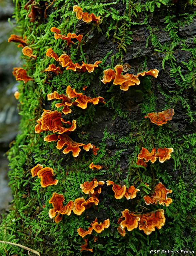
<svg viewBox="0 0 196 256">
<path fill-rule="evenodd" d="M 51 141 L 58 141 L 57 142 L 57 149 L 61 150 L 64 145 L 68 145 L 64 150 L 63 154 L 68 154 L 70 151 L 72 151 L 73 156 L 77 157 L 81 151 L 80 146 L 83 146 L 84 150 L 89 151 L 89 148 L 92 147 L 93 151 L 93 144 L 83 144 L 79 142 L 73 141 L 67 134 L 51 134 L 44 138 L 44 141 L 51 142 Z M 96 155 L 96 152 L 93 152 L 94 155 Z"/>
</svg>

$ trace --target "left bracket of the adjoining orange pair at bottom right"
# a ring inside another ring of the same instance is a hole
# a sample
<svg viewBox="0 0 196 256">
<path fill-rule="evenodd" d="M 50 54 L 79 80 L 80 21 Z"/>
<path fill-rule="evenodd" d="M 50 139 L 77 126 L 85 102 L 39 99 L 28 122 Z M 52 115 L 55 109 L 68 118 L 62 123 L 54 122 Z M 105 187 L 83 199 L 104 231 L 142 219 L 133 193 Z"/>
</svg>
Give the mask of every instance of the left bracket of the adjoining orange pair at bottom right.
<svg viewBox="0 0 196 256">
<path fill-rule="evenodd" d="M 125 220 L 123 221 L 122 218 L 125 217 Z M 119 218 L 118 223 L 120 224 L 117 228 L 118 232 L 121 234 L 122 237 L 125 236 L 125 227 L 128 231 L 133 230 L 134 228 L 137 228 L 138 221 L 140 220 L 140 217 L 134 213 L 129 212 L 128 209 L 125 209 L 122 212 L 122 216 Z"/>
</svg>

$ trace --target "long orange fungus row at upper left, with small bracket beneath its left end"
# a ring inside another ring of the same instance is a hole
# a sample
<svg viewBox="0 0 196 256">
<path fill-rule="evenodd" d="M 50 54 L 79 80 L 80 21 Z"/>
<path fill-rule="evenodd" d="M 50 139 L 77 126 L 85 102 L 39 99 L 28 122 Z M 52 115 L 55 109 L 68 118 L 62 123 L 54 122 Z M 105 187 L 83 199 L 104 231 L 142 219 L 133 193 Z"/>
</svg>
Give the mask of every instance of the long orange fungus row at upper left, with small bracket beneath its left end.
<svg viewBox="0 0 196 256">
<path fill-rule="evenodd" d="M 66 68 L 66 70 L 71 69 L 71 70 L 77 71 L 77 72 L 88 71 L 88 73 L 92 73 L 94 71 L 94 68 L 97 68 L 98 65 L 102 62 L 100 60 L 97 60 L 97 61 L 94 62 L 94 64 L 87 64 L 84 61 L 82 61 L 82 65 L 80 65 L 77 62 L 73 63 L 73 61 L 70 58 L 70 55 L 67 55 L 66 53 L 63 53 L 60 56 L 58 56 L 52 50 L 52 48 L 47 49 L 46 56 L 51 57 L 51 58 L 55 59 L 56 61 L 58 61 L 62 68 Z M 62 73 L 62 71 L 60 70 L 59 67 L 56 67 L 54 64 L 51 64 L 51 65 L 49 65 L 49 67 L 46 68 L 45 71 L 55 72 L 57 70 L 58 72 Z M 58 75 L 58 73 L 56 73 L 56 74 Z"/>
</svg>

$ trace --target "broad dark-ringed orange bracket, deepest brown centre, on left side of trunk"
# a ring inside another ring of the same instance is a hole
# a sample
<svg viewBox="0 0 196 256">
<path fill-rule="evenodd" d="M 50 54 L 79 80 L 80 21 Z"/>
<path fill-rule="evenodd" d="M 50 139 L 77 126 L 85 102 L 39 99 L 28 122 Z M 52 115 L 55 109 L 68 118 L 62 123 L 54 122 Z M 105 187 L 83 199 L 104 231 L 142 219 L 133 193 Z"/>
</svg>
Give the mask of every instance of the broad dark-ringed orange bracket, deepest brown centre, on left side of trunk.
<svg viewBox="0 0 196 256">
<path fill-rule="evenodd" d="M 64 124 L 71 125 L 70 128 L 65 128 L 62 126 L 62 122 Z M 72 124 L 70 121 L 65 121 L 61 118 L 61 112 L 45 110 L 42 113 L 42 117 L 37 119 L 37 125 L 35 126 L 35 132 L 40 133 L 42 131 L 53 131 L 62 134 L 64 132 L 74 131 L 76 129 L 76 120 L 72 120 Z"/>
</svg>

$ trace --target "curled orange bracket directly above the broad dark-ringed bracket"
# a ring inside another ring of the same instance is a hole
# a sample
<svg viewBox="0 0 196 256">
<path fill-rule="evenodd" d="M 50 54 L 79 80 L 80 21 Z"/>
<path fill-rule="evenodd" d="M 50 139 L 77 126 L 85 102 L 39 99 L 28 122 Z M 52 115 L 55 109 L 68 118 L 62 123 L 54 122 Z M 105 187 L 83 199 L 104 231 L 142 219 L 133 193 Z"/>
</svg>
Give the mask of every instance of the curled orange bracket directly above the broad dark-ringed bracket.
<svg viewBox="0 0 196 256">
<path fill-rule="evenodd" d="M 60 108 L 63 106 L 62 112 L 63 114 L 67 115 L 72 112 L 70 109 L 70 106 L 74 104 L 74 102 L 71 102 L 71 100 L 66 97 L 64 94 L 58 94 L 57 91 L 54 91 L 54 93 L 47 94 L 48 100 L 53 100 L 53 99 L 62 99 L 62 103 L 56 103 L 55 106 L 56 108 Z"/>
</svg>

